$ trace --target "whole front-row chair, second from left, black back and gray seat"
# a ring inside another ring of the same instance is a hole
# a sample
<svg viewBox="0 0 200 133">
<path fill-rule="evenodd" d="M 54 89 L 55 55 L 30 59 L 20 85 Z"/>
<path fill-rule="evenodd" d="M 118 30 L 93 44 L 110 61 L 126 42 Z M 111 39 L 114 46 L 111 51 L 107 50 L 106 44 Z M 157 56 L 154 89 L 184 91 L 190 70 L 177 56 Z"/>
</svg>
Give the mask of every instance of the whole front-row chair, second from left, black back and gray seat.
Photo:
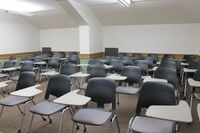
<svg viewBox="0 0 200 133">
<path fill-rule="evenodd" d="M 71 85 L 70 85 L 70 78 L 68 76 L 66 75 L 52 76 L 47 86 L 47 91 L 45 93 L 44 101 L 32 106 L 30 109 L 30 112 L 32 113 L 32 117 L 31 117 L 31 122 L 30 122 L 28 132 L 30 132 L 35 114 L 47 116 L 49 118 L 49 123 L 52 123 L 52 120 L 50 118 L 51 115 L 58 112 L 62 112 L 64 109 L 67 109 L 67 106 L 65 105 L 51 102 L 49 97 L 55 96 L 58 98 L 70 92 L 70 90 L 71 90 Z"/>
</svg>

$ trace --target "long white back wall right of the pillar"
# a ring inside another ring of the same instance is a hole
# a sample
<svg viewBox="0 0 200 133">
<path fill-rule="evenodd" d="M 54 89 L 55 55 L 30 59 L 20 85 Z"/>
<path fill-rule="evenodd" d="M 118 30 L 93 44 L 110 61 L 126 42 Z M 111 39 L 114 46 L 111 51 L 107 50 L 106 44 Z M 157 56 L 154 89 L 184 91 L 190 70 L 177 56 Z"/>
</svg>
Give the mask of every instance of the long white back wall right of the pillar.
<svg viewBox="0 0 200 133">
<path fill-rule="evenodd" d="M 104 47 L 121 52 L 199 54 L 200 24 L 106 26 Z"/>
</svg>

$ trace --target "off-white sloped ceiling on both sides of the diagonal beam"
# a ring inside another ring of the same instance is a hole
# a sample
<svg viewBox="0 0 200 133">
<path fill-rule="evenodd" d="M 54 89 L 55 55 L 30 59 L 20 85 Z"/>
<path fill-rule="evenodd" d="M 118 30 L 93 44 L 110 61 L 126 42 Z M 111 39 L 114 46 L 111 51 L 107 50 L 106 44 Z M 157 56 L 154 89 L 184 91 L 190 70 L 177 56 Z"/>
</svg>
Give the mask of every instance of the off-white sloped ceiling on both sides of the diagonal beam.
<svg viewBox="0 0 200 133">
<path fill-rule="evenodd" d="M 41 29 L 74 27 L 80 24 L 72 9 L 63 8 L 67 0 L 31 0 L 47 4 L 53 11 L 38 12 L 26 17 Z M 116 0 L 76 0 L 90 6 L 105 26 L 139 24 L 200 23 L 200 0 L 145 0 L 132 2 L 128 8 Z M 49 8 L 50 9 L 50 8 Z"/>
</svg>

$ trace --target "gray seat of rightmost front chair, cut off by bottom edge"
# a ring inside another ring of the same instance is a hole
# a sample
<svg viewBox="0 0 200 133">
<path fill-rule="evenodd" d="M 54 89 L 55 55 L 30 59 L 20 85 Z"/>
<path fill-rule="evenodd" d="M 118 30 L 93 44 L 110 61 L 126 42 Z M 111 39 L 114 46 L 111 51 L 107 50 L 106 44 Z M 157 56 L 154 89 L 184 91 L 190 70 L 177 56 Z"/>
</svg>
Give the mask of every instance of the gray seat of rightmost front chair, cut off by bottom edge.
<svg viewBox="0 0 200 133">
<path fill-rule="evenodd" d="M 172 133 L 174 123 L 166 120 L 136 116 L 131 129 L 141 133 Z"/>
</svg>

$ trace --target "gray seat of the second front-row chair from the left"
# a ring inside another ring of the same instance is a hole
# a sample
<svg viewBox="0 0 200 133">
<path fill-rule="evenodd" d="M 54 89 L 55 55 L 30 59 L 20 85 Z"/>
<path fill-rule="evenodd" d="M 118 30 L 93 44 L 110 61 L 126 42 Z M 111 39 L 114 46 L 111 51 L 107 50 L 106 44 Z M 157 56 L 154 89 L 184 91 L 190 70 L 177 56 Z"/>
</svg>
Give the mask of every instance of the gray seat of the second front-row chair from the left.
<svg viewBox="0 0 200 133">
<path fill-rule="evenodd" d="M 34 105 L 30 112 L 35 114 L 41 114 L 41 115 L 52 115 L 62 109 L 65 108 L 65 105 L 49 102 L 49 101 L 43 101 L 41 103 L 38 103 Z"/>
</svg>

